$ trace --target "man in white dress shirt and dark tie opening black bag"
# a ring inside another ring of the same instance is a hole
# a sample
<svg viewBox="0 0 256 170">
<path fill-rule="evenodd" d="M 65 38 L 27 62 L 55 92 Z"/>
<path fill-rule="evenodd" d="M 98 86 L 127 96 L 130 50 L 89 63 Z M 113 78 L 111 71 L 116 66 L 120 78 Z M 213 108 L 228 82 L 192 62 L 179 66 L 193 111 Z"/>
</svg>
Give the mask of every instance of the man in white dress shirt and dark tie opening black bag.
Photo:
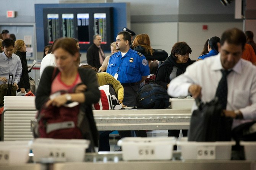
<svg viewBox="0 0 256 170">
<path fill-rule="evenodd" d="M 227 106 L 224 114 L 234 118 L 233 127 L 256 119 L 256 67 L 241 59 L 246 43 L 245 34 L 239 29 L 226 30 L 221 37 L 219 54 L 200 60 L 186 68 L 183 75 L 170 82 L 168 94 L 173 97 L 193 95 L 209 102 L 215 97 L 222 73 L 227 75 Z M 196 110 L 194 104 L 192 108 Z"/>
</svg>

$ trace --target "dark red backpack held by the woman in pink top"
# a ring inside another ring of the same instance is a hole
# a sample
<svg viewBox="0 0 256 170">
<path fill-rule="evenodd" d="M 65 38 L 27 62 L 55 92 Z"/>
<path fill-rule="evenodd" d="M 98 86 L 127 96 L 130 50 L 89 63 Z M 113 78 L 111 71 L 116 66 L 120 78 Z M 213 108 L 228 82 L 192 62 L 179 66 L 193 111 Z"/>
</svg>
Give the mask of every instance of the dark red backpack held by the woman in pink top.
<svg viewBox="0 0 256 170">
<path fill-rule="evenodd" d="M 42 106 L 37 113 L 37 126 L 34 130 L 36 137 L 58 139 L 81 139 L 79 129 L 84 118 L 80 105 L 67 106 Z"/>
</svg>

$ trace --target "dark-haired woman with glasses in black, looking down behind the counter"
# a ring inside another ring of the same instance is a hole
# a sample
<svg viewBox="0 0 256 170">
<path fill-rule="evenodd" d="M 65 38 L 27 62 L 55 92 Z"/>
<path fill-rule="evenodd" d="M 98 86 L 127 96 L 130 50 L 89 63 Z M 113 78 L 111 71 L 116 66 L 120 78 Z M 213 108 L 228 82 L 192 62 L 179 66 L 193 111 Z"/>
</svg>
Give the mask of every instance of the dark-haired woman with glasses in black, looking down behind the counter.
<svg viewBox="0 0 256 170">
<path fill-rule="evenodd" d="M 175 43 L 167 60 L 160 65 L 156 72 L 155 83 L 168 88 L 170 81 L 185 72 L 186 67 L 192 64 L 189 56 L 192 50 L 185 42 Z M 187 135 L 188 130 L 182 130 L 183 136 Z M 168 136 L 178 137 L 180 130 L 168 130 Z"/>
</svg>

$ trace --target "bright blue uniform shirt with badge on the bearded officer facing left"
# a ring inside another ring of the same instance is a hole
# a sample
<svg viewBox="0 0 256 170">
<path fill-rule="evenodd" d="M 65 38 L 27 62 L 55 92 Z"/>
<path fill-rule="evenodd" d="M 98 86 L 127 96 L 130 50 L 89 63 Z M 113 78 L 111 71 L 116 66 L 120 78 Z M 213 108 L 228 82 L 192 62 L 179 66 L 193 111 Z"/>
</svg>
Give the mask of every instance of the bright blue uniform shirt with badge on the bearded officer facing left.
<svg viewBox="0 0 256 170">
<path fill-rule="evenodd" d="M 141 81 L 142 76 L 150 75 L 150 70 L 146 57 L 129 49 L 123 57 L 120 51 L 110 56 L 107 73 L 112 76 L 118 73 L 120 83 L 136 83 Z"/>
</svg>

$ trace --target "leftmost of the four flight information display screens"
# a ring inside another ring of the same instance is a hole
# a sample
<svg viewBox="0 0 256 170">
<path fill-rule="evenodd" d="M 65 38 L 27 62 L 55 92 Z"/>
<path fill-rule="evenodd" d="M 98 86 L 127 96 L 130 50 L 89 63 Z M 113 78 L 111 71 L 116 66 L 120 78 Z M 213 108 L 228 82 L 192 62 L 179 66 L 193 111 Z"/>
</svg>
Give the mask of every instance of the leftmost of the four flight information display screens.
<svg viewBox="0 0 256 170">
<path fill-rule="evenodd" d="M 59 15 L 47 14 L 47 38 L 49 44 L 60 38 L 59 29 Z"/>
</svg>

